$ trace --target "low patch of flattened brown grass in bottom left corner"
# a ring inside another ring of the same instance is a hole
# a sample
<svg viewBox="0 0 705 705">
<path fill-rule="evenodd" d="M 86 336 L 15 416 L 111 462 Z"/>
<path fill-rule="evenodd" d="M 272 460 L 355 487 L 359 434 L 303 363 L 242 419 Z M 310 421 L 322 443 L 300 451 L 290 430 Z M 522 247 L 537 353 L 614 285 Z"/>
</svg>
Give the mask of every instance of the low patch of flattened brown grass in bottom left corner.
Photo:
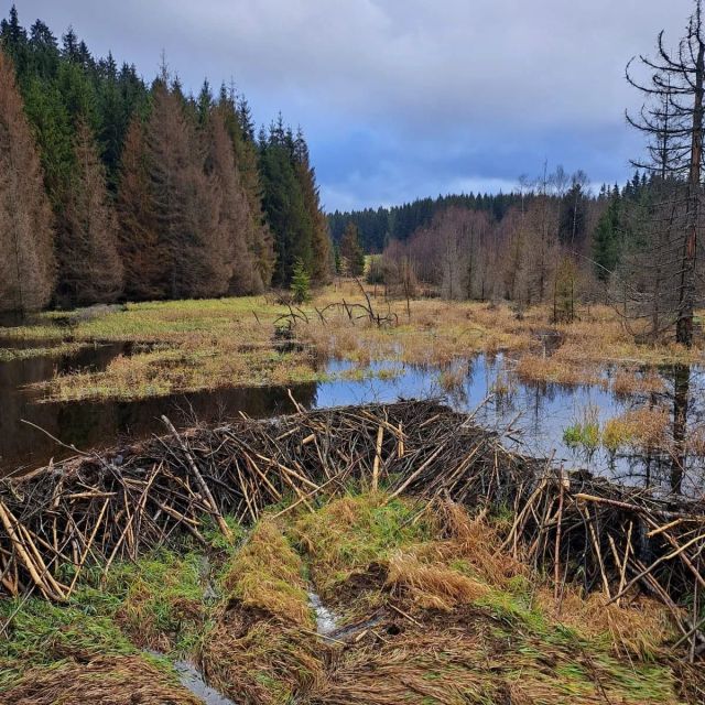
<svg viewBox="0 0 705 705">
<path fill-rule="evenodd" d="M 141 657 L 101 657 L 33 669 L 0 702 L 8 705 L 203 705 Z"/>
</svg>

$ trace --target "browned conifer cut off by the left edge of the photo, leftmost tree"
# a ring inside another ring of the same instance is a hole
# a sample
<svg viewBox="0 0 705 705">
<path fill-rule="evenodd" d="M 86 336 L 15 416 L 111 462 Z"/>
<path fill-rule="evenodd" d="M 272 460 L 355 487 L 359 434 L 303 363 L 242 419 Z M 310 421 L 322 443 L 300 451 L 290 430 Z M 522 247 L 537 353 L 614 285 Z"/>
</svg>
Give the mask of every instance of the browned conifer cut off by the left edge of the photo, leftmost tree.
<svg viewBox="0 0 705 705">
<path fill-rule="evenodd" d="M 14 69 L 0 51 L 0 311 L 42 308 L 54 280 L 51 207 Z"/>
</svg>

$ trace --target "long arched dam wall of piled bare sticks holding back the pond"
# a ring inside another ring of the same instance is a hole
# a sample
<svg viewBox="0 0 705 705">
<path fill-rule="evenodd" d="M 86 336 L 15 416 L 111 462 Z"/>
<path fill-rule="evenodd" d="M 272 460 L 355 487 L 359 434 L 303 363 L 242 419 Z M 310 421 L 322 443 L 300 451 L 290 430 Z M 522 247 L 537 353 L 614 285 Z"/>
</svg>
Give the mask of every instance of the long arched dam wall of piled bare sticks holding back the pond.
<svg viewBox="0 0 705 705">
<path fill-rule="evenodd" d="M 230 538 L 226 517 L 313 507 L 355 481 L 511 510 L 503 547 L 550 572 L 557 598 L 568 581 L 614 601 L 648 592 L 672 610 L 692 658 L 705 651 L 702 502 L 564 474 L 433 402 L 300 409 L 183 433 L 164 422 L 163 437 L 0 480 L 2 592 L 63 600 L 87 565 L 107 571 L 184 532 L 205 545 L 207 527 Z"/>
</svg>

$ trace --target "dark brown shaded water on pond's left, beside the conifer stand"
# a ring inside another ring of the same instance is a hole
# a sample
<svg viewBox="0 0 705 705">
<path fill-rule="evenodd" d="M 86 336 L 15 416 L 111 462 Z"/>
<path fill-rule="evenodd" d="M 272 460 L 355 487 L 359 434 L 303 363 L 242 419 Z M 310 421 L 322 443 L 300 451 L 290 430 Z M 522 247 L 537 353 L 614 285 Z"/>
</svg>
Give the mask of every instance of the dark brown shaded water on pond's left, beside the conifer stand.
<svg viewBox="0 0 705 705">
<path fill-rule="evenodd" d="M 161 433 L 162 414 L 177 426 L 198 419 L 214 422 L 238 412 L 269 416 L 292 411 L 285 389 L 248 388 L 177 394 L 166 398 L 123 401 L 77 401 L 37 403 L 39 394 L 28 384 L 51 379 L 72 369 L 104 369 L 117 355 L 129 354 L 123 344 L 91 346 L 74 356 L 33 357 L 0 364 L 0 475 L 26 471 L 50 458 L 72 455 L 47 434 L 78 449 L 100 448 L 130 438 Z M 300 403 L 313 403 L 315 387 L 293 388 Z M 46 433 L 23 423 L 29 421 Z"/>
</svg>

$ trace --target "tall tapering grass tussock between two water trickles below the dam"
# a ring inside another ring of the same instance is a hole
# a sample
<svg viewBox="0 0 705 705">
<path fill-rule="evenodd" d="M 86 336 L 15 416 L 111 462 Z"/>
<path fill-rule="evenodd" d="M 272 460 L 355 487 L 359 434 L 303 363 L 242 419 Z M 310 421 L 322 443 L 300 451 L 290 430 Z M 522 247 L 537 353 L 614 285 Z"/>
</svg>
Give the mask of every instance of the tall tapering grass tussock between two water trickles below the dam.
<svg viewBox="0 0 705 705">
<path fill-rule="evenodd" d="M 226 598 L 200 653 L 209 681 L 236 702 L 284 704 L 323 673 L 301 556 L 282 525 L 260 520 L 224 577 Z"/>
</svg>

